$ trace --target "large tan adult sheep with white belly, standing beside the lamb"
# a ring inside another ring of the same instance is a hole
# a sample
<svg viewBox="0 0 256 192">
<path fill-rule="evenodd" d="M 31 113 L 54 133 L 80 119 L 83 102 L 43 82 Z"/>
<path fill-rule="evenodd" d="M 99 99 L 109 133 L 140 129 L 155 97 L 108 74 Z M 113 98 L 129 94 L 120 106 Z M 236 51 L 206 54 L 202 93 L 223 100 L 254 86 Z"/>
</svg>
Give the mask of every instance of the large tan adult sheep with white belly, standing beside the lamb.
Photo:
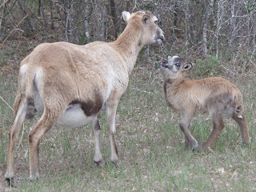
<svg viewBox="0 0 256 192">
<path fill-rule="evenodd" d="M 122 12 L 125 30 L 114 42 L 78 46 L 68 42 L 42 43 L 21 62 L 14 124 L 10 129 L 6 180 L 14 178 L 14 146 L 22 123 L 42 114 L 29 134 L 30 180 L 39 178 L 40 139 L 57 124 L 94 129 L 94 162 L 102 161 L 98 113 L 106 110 L 109 124 L 110 160 L 118 162 L 115 114 L 126 90 L 139 51 L 165 38 L 150 11 Z"/>
</svg>

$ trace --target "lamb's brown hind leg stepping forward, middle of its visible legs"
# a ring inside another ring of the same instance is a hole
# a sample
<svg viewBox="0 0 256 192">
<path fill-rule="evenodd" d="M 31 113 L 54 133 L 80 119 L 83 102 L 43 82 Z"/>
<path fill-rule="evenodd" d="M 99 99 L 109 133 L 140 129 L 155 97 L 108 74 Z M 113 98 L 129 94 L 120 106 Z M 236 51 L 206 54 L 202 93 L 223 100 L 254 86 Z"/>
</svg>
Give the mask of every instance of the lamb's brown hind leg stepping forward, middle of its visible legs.
<svg viewBox="0 0 256 192">
<path fill-rule="evenodd" d="M 221 114 L 213 114 L 211 115 L 211 117 L 214 124 L 213 130 L 210 132 L 210 135 L 207 138 L 206 142 L 202 145 L 202 151 L 206 151 L 208 147 L 214 144 L 224 128 L 224 122 Z"/>
</svg>

